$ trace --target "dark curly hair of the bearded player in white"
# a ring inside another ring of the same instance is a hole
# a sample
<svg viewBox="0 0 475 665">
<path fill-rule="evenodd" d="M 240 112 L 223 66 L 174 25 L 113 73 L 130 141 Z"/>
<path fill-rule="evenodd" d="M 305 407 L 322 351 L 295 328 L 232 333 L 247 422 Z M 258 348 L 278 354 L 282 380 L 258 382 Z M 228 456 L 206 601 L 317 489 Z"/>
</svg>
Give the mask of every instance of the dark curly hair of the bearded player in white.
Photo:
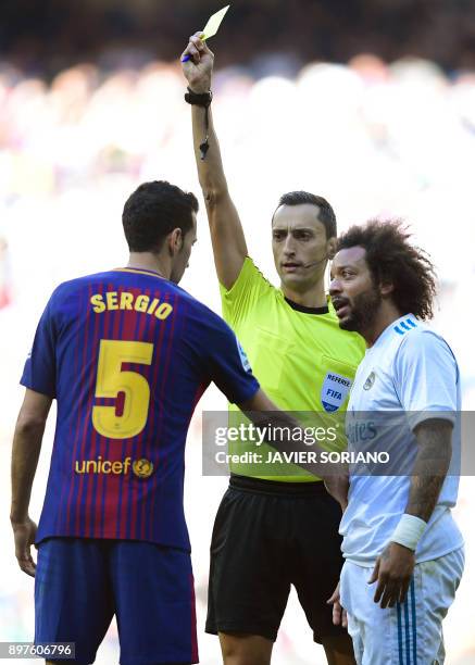
<svg viewBox="0 0 475 665">
<path fill-rule="evenodd" d="M 337 251 L 363 247 L 373 281 L 391 283 L 391 297 L 401 314 L 412 312 L 424 321 L 434 315 L 436 273 L 428 254 L 411 244 L 410 237 L 408 227 L 399 219 L 372 219 L 342 234 Z"/>
</svg>

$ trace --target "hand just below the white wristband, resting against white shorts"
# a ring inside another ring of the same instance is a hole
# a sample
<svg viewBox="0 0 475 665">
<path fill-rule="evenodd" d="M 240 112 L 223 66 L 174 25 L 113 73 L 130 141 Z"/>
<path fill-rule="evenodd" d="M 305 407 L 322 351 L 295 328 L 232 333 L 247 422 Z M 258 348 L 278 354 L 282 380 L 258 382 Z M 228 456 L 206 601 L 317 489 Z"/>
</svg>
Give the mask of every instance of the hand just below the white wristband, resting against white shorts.
<svg viewBox="0 0 475 665">
<path fill-rule="evenodd" d="M 412 550 L 398 542 L 390 542 L 376 560 L 373 575 L 367 584 L 377 581 L 374 602 L 385 607 L 393 607 L 403 603 L 411 584 L 415 566 L 415 555 Z"/>
</svg>

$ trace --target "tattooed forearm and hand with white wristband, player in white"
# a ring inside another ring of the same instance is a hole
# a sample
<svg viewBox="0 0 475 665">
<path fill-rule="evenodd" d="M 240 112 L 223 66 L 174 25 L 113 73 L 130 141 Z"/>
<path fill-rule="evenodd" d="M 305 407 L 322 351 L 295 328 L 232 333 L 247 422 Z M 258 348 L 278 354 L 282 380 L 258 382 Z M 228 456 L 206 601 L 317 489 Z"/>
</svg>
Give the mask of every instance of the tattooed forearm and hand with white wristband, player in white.
<svg viewBox="0 0 475 665">
<path fill-rule="evenodd" d="M 427 419 L 414 429 L 417 455 L 411 475 L 409 501 L 391 542 L 376 561 L 370 580 L 378 580 L 374 595 L 382 607 L 403 602 L 415 565 L 415 548 L 437 505 L 452 456 L 451 421 Z M 404 544 L 403 544 L 404 543 Z"/>
</svg>

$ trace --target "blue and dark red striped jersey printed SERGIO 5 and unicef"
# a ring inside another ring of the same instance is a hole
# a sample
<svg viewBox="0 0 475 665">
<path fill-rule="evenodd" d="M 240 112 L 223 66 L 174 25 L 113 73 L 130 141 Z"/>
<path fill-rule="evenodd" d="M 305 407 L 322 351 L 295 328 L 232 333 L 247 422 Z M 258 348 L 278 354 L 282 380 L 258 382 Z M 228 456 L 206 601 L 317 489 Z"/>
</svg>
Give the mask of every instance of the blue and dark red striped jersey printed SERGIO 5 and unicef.
<svg viewBox="0 0 475 665">
<path fill-rule="evenodd" d="M 234 403 L 259 389 L 235 334 L 175 284 L 120 268 L 60 285 L 21 379 L 58 402 L 37 542 L 70 536 L 189 550 L 185 442 L 211 381 Z"/>
</svg>

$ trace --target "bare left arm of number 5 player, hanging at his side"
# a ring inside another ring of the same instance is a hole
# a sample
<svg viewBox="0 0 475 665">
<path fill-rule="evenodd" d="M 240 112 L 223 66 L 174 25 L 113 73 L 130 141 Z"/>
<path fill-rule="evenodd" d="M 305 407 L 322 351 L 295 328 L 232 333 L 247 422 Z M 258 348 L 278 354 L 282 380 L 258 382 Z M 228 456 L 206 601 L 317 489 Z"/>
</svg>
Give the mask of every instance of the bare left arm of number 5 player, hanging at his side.
<svg viewBox="0 0 475 665">
<path fill-rule="evenodd" d="M 50 397 L 26 389 L 13 436 L 10 520 L 18 565 L 33 577 L 36 565 L 30 547 L 35 542 L 37 527 L 28 515 L 28 506 L 51 402 Z"/>
</svg>

